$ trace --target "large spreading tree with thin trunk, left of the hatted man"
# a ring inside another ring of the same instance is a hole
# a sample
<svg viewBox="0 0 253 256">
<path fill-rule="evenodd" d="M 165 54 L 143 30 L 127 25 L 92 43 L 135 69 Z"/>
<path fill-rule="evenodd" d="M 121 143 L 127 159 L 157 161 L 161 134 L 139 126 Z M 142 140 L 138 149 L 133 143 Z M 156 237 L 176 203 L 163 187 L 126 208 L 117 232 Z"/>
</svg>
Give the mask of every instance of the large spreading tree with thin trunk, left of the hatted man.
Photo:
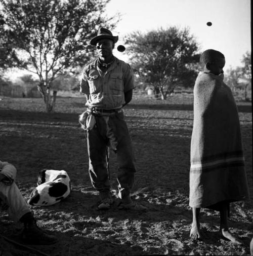
<svg viewBox="0 0 253 256">
<path fill-rule="evenodd" d="M 52 82 L 94 54 L 89 40 L 100 26 L 115 27 L 118 14 L 105 15 L 109 0 L 1 0 L 0 49 L 6 66 L 18 66 L 38 76 L 38 90 L 48 112 L 53 111 Z M 2 44 L 2 47 L 1 47 Z M 9 48 L 6 48 L 8 46 Z M 1 59 L 0 59 L 1 60 Z"/>
</svg>

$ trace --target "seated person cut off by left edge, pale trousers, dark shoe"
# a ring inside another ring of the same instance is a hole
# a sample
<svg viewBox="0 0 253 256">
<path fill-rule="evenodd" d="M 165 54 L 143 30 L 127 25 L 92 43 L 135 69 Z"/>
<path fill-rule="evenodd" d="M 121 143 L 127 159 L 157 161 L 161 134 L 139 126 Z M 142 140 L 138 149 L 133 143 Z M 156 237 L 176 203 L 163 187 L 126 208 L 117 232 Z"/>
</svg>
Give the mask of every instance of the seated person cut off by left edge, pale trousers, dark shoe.
<svg viewBox="0 0 253 256">
<path fill-rule="evenodd" d="M 7 210 L 14 222 L 24 224 L 21 239 L 26 244 L 54 244 L 58 239 L 36 225 L 36 220 L 16 185 L 17 169 L 0 161 L 0 210 Z"/>
</svg>

